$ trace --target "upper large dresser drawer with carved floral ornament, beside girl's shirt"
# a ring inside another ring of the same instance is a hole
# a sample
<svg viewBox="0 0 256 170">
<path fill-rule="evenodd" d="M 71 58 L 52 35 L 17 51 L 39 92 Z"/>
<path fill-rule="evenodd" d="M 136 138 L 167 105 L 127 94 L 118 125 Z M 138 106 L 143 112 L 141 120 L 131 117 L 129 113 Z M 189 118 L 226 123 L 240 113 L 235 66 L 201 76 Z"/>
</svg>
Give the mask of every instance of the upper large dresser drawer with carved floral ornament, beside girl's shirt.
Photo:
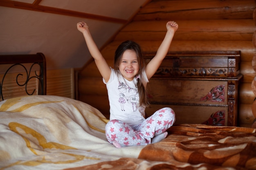
<svg viewBox="0 0 256 170">
<path fill-rule="evenodd" d="M 152 104 L 227 105 L 227 85 L 227 81 L 150 79 L 148 95 Z"/>
</svg>

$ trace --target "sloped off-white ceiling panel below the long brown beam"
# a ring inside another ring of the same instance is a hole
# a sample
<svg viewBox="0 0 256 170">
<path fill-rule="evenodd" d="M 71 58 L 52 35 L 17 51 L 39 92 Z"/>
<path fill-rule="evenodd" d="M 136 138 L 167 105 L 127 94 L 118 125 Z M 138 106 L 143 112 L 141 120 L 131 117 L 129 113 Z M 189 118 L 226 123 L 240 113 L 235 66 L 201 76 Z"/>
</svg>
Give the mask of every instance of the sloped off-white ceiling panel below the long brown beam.
<svg viewBox="0 0 256 170">
<path fill-rule="evenodd" d="M 0 54 L 44 53 L 48 69 L 80 68 L 91 55 L 83 34 L 76 29 L 81 18 L 0 7 Z M 85 19 L 99 48 L 122 24 Z M 102 29 L 104 28 L 104 29 Z"/>
</svg>

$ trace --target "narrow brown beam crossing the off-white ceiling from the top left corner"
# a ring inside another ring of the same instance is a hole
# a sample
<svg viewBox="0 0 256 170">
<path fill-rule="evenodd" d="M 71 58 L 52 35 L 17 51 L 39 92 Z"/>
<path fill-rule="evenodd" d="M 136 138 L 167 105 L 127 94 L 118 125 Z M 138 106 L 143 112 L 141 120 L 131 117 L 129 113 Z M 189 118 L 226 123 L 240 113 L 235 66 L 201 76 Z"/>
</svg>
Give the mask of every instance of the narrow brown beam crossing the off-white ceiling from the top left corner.
<svg viewBox="0 0 256 170">
<path fill-rule="evenodd" d="M 127 22 L 127 20 L 123 20 L 119 18 L 112 18 L 112 17 L 106 17 L 102 15 L 95 15 L 91 13 L 83 13 L 83 12 L 71 11 L 67 9 L 60 9 L 60 8 L 38 5 L 40 1 L 41 0 L 35 0 L 33 4 L 29 4 L 29 3 L 17 2 L 13 0 L 0 0 L 0 6 L 16 8 L 16 9 L 25 9 L 30 11 L 45 12 L 45 13 L 54 13 L 59 15 L 68 15 L 68 16 L 74 16 L 79 18 L 88 18 L 92 20 L 101 20 L 105 22 L 114 22 L 119 24 L 125 24 Z"/>
</svg>

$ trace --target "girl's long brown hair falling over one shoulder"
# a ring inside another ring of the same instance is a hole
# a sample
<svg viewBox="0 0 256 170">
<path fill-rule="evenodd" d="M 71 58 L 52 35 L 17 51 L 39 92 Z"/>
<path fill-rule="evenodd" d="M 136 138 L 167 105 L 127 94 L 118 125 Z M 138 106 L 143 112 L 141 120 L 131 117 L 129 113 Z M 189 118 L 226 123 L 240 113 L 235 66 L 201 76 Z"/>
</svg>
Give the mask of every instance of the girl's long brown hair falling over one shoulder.
<svg viewBox="0 0 256 170">
<path fill-rule="evenodd" d="M 147 90 L 146 90 L 146 77 L 143 76 L 142 72 L 145 70 L 145 62 L 144 58 L 142 56 L 141 47 L 139 44 L 137 44 L 134 41 L 127 40 L 125 42 L 122 42 L 115 52 L 115 61 L 114 61 L 114 69 L 117 71 L 119 70 L 119 64 L 121 61 L 121 57 L 124 54 L 124 51 L 126 50 L 132 50 L 135 51 L 138 57 L 138 63 L 139 63 L 139 72 L 138 75 L 140 78 L 137 78 L 137 87 L 138 87 L 138 93 L 139 93 L 139 105 L 140 106 L 148 106 L 148 97 L 147 97 Z"/>
</svg>

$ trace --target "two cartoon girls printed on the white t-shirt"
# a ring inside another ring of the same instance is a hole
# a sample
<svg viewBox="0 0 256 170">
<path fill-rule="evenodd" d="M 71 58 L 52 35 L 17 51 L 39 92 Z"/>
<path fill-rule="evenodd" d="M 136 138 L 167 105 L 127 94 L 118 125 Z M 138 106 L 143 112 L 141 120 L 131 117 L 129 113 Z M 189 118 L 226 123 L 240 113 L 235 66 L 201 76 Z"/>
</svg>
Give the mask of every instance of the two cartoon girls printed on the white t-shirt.
<svg viewBox="0 0 256 170">
<path fill-rule="evenodd" d="M 121 110 L 125 111 L 125 106 L 128 106 L 128 104 L 131 104 L 128 107 L 132 107 L 133 112 L 136 112 L 137 102 L 139 102 L 139 97 L 137 97 L 137 90 L 134 88 L 128 87 L 124 82 L 119 82 L 118 90 L 120 92 L 118 102 L 120 103 Z M 126 101 L 129 101 L 129 102 L 127 103 Z"/>
</svg>

